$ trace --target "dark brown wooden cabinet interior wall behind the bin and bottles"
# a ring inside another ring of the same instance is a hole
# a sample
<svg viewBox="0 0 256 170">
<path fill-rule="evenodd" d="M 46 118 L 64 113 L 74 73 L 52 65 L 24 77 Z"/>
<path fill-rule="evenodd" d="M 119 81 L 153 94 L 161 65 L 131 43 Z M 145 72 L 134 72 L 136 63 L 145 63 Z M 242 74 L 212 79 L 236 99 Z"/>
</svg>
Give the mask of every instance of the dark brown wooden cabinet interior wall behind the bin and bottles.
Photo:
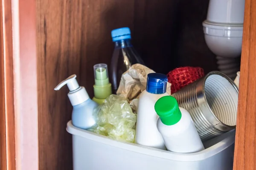
<svg viewBox="0 0 256 170">
<path fill-rule="evenodd" d="M 196 9 L 189 6 L 183 9 L 189 2 L 37 0 L 40 170 L 72 169 L 71 135 L 65 130 L 71 119 L 72 106 L 67 98 L 67 87 L 57 92 L 53 88 L 76 74 L 80 85 L 92 97 L 93 65 L 99 62 L 110 64 L 112 29 L 130 27 L 135 48 L 145 63 L 157 72 L 167 73 L 186 64 L 204 67 L 196 58 L 205 56 L 215 63 L 215 56 L 205 45 L 201 26 L 206 18 L 208 1 L 197 0 Z M 193 17 L 188 19 L 190 13 Z M 186 32 L 190 27 L 192 29 Z M 186 36 L 183 36 L 185 32 Z M 195 42 L 198 46 L 194 49 Z M 187 60 L 189 62 L 184 62 Z M 209 72 L 215 70 L 216 65 L 209 64 L 204 68 Z"/>
</svg>

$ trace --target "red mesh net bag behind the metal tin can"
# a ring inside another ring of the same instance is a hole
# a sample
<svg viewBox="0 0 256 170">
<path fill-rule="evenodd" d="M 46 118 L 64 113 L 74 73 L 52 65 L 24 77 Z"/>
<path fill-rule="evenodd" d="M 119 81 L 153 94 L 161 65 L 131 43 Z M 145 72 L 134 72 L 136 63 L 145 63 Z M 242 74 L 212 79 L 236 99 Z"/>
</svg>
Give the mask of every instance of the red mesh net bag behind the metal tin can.
<svg viewBox="0 0 256 170">
<path fill-rule="evenodd" d="M 175 68 L 167 74 L 167 77 L 168 82 L 172 83 L 171 92 L 173 94 L 195 80 L 204 77 L 204 69 L 200 67 Z"/>
</svg>

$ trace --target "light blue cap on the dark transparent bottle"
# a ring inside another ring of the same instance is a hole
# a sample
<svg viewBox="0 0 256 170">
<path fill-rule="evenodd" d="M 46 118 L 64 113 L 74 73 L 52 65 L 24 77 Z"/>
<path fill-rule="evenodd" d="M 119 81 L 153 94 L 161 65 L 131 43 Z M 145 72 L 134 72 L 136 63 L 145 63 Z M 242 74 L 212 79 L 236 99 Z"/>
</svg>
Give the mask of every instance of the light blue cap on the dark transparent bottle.
<svg viewBox="0 0 256 170">
<path fill-rule="evenodd" d="M 128 27 L 117 28 L 111 31 L 113 42 L 125 39 L 131 39 L 131 31 Z"/>
</svg>

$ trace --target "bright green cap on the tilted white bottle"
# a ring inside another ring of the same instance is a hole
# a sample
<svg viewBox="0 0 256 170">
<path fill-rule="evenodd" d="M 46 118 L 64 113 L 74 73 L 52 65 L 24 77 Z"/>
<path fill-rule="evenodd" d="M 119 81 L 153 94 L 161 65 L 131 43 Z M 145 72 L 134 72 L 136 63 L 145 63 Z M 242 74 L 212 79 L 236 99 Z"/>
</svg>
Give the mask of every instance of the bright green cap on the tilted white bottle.
<svg viewBox="0 0 256 170">
<path fill-rule="evenodd" d="M 158 99 L 154 109 L 164 125 L 175 125 L 181 119 L 179 105 L 172 96 L 163 96 Z"/>
</svg>

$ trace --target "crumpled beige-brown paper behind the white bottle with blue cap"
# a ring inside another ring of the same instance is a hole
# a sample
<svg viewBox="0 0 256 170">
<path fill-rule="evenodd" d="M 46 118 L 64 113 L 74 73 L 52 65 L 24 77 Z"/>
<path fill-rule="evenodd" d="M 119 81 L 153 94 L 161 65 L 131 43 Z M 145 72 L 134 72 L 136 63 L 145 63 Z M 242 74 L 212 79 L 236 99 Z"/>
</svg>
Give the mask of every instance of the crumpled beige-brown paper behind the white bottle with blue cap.
<svg viewBox="0 0 256 170">
<path fill-rule="evenodd" d="M 149 73 L 155 72 L 141 64 L 132 65 L 128 71 L 122 74 L 116 94 L 127 98 L 129 102 L 133 99 L 138 99 L 141 92 L 146 89 L 147 75 Z M 171 83 L 169 82 L 167 82 L 166 92 L 171 95 Z M 131 105 L 136 107 L 137 100 L 131 102 Z"/>
</svg>

